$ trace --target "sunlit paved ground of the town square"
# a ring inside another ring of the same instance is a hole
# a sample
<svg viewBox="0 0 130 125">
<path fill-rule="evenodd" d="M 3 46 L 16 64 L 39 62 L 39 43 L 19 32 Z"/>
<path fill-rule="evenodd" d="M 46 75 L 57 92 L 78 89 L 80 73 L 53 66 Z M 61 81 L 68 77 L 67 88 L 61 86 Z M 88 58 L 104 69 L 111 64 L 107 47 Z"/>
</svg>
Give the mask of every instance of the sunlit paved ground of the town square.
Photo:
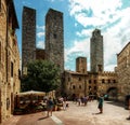
<svg viewBox="0 0 130 125">
<path fill-rule="evenodd" d="M 55 111 L 50 117 L 46 112 L 13 116 L 2 125 L 130 125 L 129 111 L 112 101 L 104 102 L 103 114 L 96 114 L 98 102 L 84 106 L 69 102 L 66 111 Z"/>
</svg>

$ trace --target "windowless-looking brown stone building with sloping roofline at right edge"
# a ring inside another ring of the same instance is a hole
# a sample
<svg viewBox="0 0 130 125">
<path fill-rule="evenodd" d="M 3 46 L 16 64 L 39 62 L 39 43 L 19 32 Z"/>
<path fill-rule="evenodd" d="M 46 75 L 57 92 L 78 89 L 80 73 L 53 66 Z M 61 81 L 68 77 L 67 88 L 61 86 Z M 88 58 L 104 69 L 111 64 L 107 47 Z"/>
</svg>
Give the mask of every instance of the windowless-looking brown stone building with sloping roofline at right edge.
<svg viewBox="0 0 130 125">
<path fill-rule="evenodd" d="M 130 42 L 117 54 L 118 99 L 125 100 L 130 95 Z"/>
</svg>

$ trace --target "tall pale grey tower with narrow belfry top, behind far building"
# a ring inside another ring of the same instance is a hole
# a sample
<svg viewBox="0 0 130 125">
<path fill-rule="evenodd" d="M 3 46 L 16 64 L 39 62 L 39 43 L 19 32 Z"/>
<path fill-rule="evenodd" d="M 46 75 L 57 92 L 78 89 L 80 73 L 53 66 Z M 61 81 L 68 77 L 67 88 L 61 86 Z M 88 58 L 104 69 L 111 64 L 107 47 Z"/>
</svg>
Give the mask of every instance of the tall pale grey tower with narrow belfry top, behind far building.
<svg viewBox="0 0 130 125">
<path fill-rule="evenodd" d="M 91 72 L 102 72 L 104 70 L 103 36 L 99 29 L 92 32 L 90 50 Z"/>
</svg>

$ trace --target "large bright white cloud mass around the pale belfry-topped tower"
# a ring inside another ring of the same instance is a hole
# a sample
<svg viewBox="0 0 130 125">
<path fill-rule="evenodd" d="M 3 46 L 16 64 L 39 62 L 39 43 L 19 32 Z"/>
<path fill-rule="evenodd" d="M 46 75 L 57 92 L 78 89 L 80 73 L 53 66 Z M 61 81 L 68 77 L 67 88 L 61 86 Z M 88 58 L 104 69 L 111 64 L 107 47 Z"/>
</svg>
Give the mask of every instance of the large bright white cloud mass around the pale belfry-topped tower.
<svg viewBox="0 0 130 125">
<path fill-rule="evenodd" d="M 100 27 L 104 37 L 104 67 L 106 71 L 114 70 L 117 65 L 116 54 L 130 41 L 130 16 L 128 16 L 130 8 L 121 9 L 122 4 L 121 0 L 69 0 L 70 16 L 84 27 L 81 31 L 76 32 L 78 37 L 91 37 L 92 30 Z M 93 26 L 93 29 L 87 30 L 88 26 Z M 88 52 L 84 50 L 89 48 L 88 41 L 90 38 L 75 42 L 74 46 L 67 50 L 66 56 L 69 57 L 69 54 L 77 52 L 77 50 L 89 55 L 90 50 Z"/>
</svg>

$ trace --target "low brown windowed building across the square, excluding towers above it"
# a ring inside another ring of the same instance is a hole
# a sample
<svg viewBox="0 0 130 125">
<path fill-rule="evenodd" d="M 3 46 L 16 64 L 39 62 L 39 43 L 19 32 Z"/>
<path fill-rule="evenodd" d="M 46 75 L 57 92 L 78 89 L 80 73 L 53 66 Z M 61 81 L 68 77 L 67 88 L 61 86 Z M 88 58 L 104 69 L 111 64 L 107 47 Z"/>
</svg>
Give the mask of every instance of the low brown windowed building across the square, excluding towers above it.
<svg viewBox="0 0 130 125">
<path fill-rule="evenodd" d="M 82 57 L 78 57 L 78 59 Z M 84 57 L 83 57 L 84 58 Z M 79 72 L 65 70 L 63 94 L 69 97 L 108 94 L 117 98 L 117 75 L 115 72 Z"/>
</svg>

